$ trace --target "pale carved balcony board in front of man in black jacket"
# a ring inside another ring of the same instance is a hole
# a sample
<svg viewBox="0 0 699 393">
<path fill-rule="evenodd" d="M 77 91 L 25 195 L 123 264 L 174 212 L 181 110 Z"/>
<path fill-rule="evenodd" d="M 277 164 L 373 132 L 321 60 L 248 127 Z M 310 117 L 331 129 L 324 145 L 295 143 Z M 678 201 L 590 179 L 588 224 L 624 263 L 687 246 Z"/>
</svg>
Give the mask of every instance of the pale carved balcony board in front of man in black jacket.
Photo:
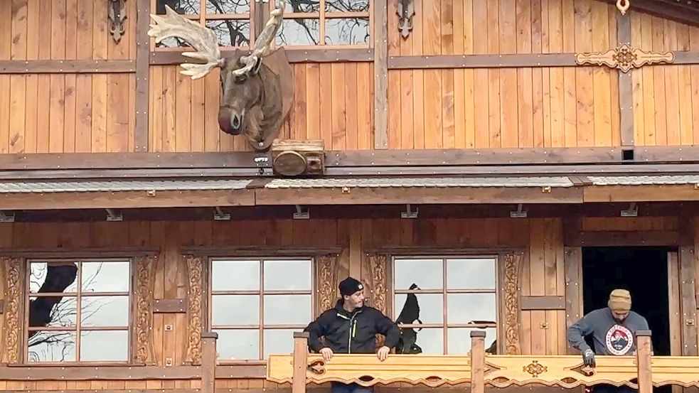
<svg viewBox="0 0 699 393">
<path fill-rule="evenodd" d="M 340 381 L 371 386 L 407 382 L 439 387 L 471 379 L 469 356 L 389 355 L 381 362 L 373 354 L 336 354 L 326 363 L 321 355 L 310 354 L 306 365 L 306 383 L 309 384 Z M 293 372 L 292 355 L 270 355 L 267 359 L 267 380 L 292 382 Z"/>
</svg>

